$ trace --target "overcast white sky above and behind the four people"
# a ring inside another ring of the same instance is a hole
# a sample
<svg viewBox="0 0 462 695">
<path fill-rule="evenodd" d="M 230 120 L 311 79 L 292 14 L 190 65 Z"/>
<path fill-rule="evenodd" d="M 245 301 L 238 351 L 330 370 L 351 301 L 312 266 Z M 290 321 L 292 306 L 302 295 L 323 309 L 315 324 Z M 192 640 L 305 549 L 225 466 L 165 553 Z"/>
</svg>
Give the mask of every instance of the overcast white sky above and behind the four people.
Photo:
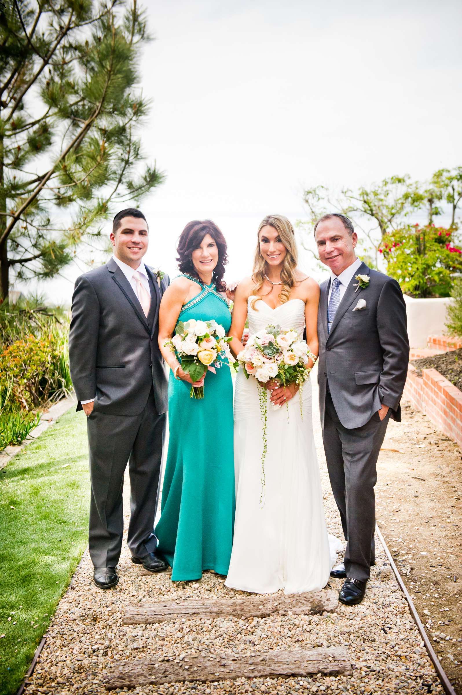
<svg viewBox="0 0 462 695">
<path fill-rule="evenodd" d="M 406 172 L 425 179 L 462 164 L 459 1 L 145 7 L 156 40 L 142 54 L 142 88 L 153 100 L 142 140 L 167 181 L 141 208 L 147 262 L 171 275 L 191 219 L 219 224 L 228 277 L 238 279 L 250 270 L 258 222 L 268 213 L 302 218 L 304 188 Z M 305 270 L 311 263 L 302 254 Z M 66 275 L 53 282 L 54 300 L 72 295 L 79 271 Z"/>
</svg>

